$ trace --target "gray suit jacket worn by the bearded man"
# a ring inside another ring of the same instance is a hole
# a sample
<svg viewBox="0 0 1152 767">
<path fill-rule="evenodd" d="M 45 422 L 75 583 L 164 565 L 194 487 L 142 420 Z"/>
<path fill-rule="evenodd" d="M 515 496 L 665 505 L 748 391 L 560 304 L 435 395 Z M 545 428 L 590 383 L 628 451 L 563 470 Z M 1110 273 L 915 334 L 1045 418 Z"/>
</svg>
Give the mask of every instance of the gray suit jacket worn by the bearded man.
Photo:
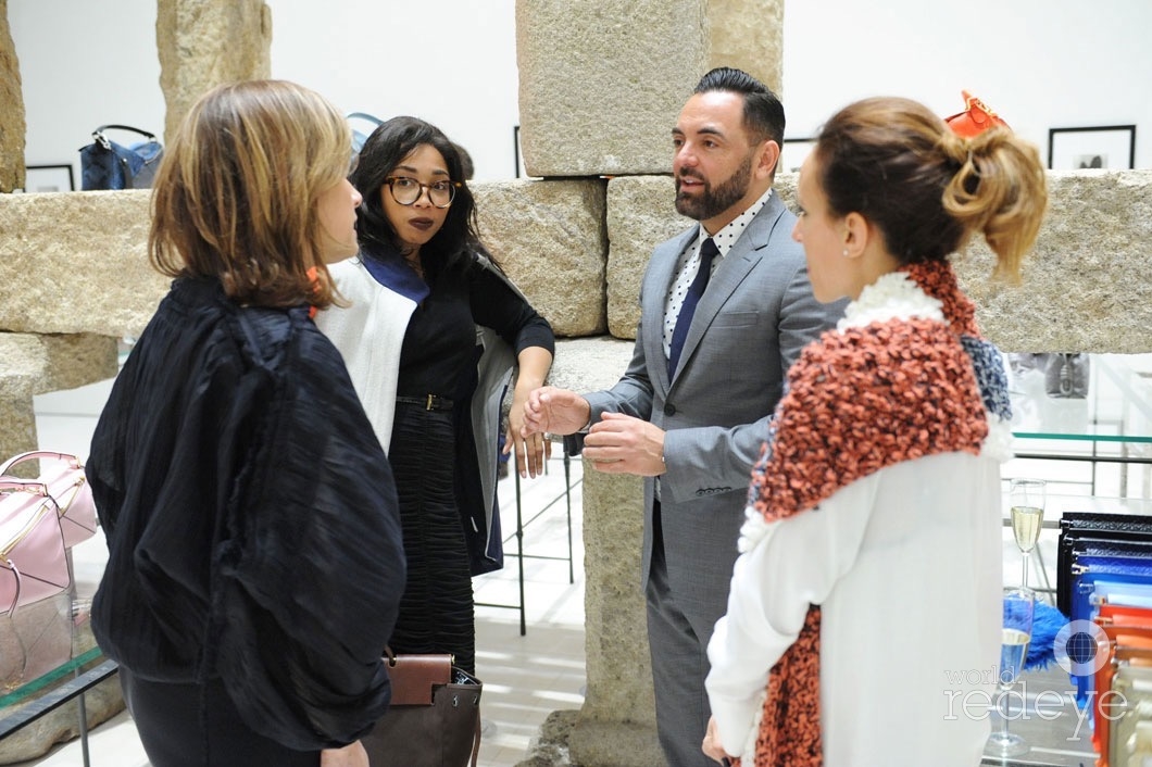
<svg viewBox="0 0 1152 767">
<path fill-rule="evenodd" d="M 696 307 L 680 367 L 668 380 L 665 299 L 676 261 L 699 227 L 657 246 L 641 287 L 636 348 L 623 378 L 586 395 L 592 423 L 605 411 L 666 432 L 659 478 L 668 579 L 685 609 L 713 622 L 727 607 L 752 463 L 768 433 L 785 373 L 799 350 L 843 314 L 812 296 L 796 217 L 773 193 L 725 256 Z M 643 584 L 652 562 L 655 480 L 644 484 Z M 714 614 L 714 617 L 712 617 Z"/>
</svg>

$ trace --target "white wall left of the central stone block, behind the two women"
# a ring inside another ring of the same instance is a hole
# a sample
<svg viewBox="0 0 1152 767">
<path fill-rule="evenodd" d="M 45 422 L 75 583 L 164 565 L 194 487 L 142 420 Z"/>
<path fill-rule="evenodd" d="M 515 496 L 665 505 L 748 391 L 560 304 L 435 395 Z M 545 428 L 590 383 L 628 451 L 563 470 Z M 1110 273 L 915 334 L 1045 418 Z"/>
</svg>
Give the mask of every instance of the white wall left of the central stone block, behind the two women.
<svg viewBox="0 0 1152 767">
<path fill-rule="evenodd" d="M 514 175 L 515 0 L 267 2 L 273 77 L 344 112 L 429 120 L 469 150 L 478 180 Z M 162 134 L 156 15 L 156 0 L 8 0 L 28 165 L 73 162 L 78 187 L 77 150 L 98 126 Z"/>
</svg>

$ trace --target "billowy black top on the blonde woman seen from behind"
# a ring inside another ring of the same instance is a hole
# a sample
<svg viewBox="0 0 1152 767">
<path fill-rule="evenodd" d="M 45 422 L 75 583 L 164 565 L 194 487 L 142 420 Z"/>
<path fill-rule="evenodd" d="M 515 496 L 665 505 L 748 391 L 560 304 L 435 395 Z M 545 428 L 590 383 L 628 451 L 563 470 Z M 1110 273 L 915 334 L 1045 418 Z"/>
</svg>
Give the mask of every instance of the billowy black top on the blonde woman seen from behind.
<svg viewBox="0 0 1152 767">
<path fill-rule="evenodd" d="M 389 699 L 404 557 L 388 461 L 340 354 L 291 310 L 176 280 L 86 464 L 108 539 L 100 647 L 139 677 L 220 677 L 244 722 L 343 745 Z"/>
</svg>

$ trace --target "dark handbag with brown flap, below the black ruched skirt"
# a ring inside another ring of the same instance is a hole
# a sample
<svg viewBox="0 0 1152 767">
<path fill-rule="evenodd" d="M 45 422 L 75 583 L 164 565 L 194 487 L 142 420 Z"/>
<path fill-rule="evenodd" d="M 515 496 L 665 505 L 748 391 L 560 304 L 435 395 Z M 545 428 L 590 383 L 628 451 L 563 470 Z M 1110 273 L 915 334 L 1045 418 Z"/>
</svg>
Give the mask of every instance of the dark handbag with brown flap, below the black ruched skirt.
<svg viewBox="0 0 1152 767">
<path fill-rule="evenodd" d="M 372 767 L 476 767 L 483 683 L 448 654 L 386 653 L 392 704 L 361 738 Z"/>
</svg>

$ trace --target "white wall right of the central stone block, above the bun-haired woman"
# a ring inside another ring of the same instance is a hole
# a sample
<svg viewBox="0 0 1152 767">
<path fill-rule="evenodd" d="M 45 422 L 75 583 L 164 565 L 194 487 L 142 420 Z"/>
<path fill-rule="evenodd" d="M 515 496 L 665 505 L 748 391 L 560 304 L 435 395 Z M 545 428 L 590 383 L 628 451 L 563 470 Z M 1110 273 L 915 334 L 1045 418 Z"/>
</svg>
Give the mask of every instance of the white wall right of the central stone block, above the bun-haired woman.
<svg viewBox="0 0 1152 767">
<path fill-rule="evenodd" d="M 1150 35 L 1149 0 L 786 0 L 787 132 L 866 96 L 955 114 L 967 89 L 1045 161 L 1049 128 L 1136 124 L 1152 167 Z"/>
</svg>

